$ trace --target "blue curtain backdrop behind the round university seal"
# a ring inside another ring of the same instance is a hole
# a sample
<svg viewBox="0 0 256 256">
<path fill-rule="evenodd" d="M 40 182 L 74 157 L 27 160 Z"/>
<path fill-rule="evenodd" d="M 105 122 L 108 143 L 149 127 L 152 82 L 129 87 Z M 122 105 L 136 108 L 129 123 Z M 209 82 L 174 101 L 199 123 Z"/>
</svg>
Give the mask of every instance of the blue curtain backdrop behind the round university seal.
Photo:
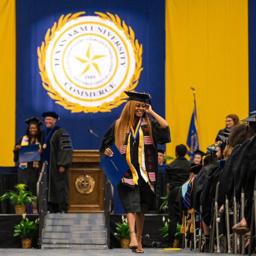
<svg viewBox="0 0 256 256">
<path fill-rule="evenodd" d="M 143 46 L 143 71 L 139 92 L 152 95 L 156 113 L 165 115 L 165 1 L 164 0 L 17 0 L 17 57 L 16 57 L 16 141 L 24 135 L 24 120 L 40 117 L 42 112 L 55 111 L 61 119 L 58 125 L 71 135 L 74 149 L 98 149 L 100 141 L 88 133 L 92 128 L 101 138 L 119 117 L 124 106 L 113 108 L 110 113 L 74 113 L 54 103 L 42 87 L 39 74 L 37 47 L 44 41 L 48 28 L 62 14 L 85 11 L 117 14 L 135 32 Z M 42 117 L 40 117 L 43 120 Z M 123 213 L 115 191 L 115 213 Z"/>
</svg>

